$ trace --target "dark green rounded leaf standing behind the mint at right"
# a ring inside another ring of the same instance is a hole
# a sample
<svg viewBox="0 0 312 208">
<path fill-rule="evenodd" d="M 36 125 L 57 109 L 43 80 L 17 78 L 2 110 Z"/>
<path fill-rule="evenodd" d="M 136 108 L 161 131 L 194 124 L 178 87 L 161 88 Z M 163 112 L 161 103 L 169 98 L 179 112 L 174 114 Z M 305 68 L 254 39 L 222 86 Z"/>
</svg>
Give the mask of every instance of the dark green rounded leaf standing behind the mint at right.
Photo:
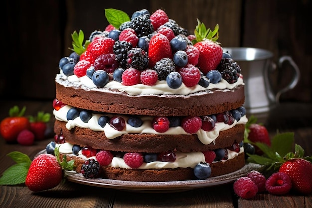
<svg viewBox="0 0 312 208">
<path fill-rule="evenodd" d="M 277 133 L 271 141 L 271 149 L 274 152 L 278 152 L 280 155 L 284 156 L 292 151 L 294 144 L 294 133 Z"/>
</svg>

